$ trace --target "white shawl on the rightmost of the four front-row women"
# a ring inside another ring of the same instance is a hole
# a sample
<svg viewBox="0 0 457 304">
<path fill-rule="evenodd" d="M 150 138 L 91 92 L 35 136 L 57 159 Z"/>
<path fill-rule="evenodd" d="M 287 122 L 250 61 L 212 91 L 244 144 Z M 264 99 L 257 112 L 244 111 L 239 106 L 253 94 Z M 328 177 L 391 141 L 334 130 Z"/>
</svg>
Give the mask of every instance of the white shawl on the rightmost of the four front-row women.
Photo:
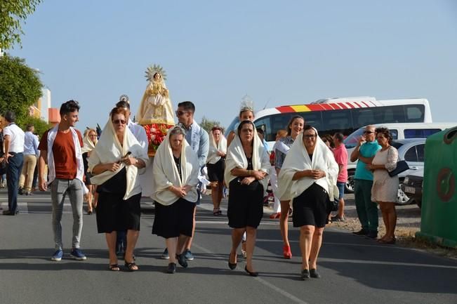
<svg viewBox="0 0 457 304">
<path fill-rule="evenodd" d="M 314 129 L 315 130 L 315 129 Z M 316 131 L 317 134 L 317 131 Z M 329 199 L 338 197 L 336 178 L 338 177 L 338 164 L 336 164 L 333 153 L 325 143 L 317 136 L 316 147 L 312 153 L 312 160 L 307 153 L 303 143 L 303 133 L 300 133 L 293 142 L 279 173 L 279 198 L 282 201 L 290 200 L 302 194 L 312 183 L 317 183 L 329 193 Z M 292 180 L 293 175 L 298 171 L 320 169 L 326 173 L 324 178 L 300 178 Z M 336 188 L 336 189 L 335 189 Z"/>
</svg>

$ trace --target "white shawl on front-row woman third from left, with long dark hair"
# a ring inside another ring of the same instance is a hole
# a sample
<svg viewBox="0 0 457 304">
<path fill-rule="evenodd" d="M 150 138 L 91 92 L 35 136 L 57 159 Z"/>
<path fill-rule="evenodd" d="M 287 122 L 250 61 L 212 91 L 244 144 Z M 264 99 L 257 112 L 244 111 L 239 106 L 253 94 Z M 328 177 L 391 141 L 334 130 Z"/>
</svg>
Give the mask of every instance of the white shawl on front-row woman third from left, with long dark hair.
<svg viewBox="0 0 457 304">
<path fill-rule="evenodd" d="M 252 166 L 256 171 L 263 171 L 268 173 L 268 168 L 270 168 L 270 158 L 268 157 L 265 147 L 263 147 L 260 138 L 257 135 L 256 127 L 254 127 L 253 134 L 253 150 L 252 150 Z M 234 168 L 247 168 L 248 159 L 246 159 L 246 154 L 244 154 L 243 145 L 241 144 L 241 139 L 238 135 L 232 140 L 230 146 L 227 150 L 227 157 L 225 158 L 225 171 L 224 171 L 224 180 L 225 185 L 229 187 L 230 182 L 237 178 L 237 176 L 232 176 L 232 169 Z M 263 190 L 267 190 L 268 178 L 265 176 L 263 180 L 260 180 L 260 183 L 263 185 Z"/>
</svg>

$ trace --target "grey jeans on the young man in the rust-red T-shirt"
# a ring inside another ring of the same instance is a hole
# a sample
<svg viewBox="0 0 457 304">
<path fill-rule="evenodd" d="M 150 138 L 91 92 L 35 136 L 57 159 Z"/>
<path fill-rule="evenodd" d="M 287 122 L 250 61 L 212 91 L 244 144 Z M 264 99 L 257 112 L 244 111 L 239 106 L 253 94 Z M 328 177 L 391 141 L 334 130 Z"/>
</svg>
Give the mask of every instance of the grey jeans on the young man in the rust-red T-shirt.
<svg viewBox="0 0 457 304">
<path fill-rule="evenodd" d="M 83 183 L 76 178 L 74 180 L 56 178 L 51 183 L 55 249 L 62 249 L 62 225 L 60 222 L 62 221 L 63 202 L 67 194 L 73 211 L 72 248 L 79 248 L 81 240 L 81 231 L 83 230 Z"/>
</svg>

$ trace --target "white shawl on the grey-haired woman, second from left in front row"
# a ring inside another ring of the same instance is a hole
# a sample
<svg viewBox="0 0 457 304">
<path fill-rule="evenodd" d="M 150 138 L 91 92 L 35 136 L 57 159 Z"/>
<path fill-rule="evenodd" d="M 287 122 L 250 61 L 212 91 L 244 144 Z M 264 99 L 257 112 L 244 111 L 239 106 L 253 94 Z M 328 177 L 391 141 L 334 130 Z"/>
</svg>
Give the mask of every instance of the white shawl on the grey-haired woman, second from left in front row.
<svg viewBox="0 0 457 304">
<path fill-rule="evenodd" d="M 174 128 L 180 127 L 175 126 Z M 182 180 L 180 179 L 170 146 L 171 130 L 173 128 L 168 130 L 166 138 L 159 145 L 152 166 L 155 186 L 152 199 L 164 206 L 169 206 L 179 199 L 176 194 L 168 190 L 168 187 L 171 185 L 175 187 L 190 185 L 192 188 L 187 192 L 184 199 L 192 202 L 197 201 L 197 184 L 199 183 L 199 160 L 197 154 L 195 154 L 185 138 L 183 138 L 183 144 L 181 146 L 180 168 Z"/>
</svg>

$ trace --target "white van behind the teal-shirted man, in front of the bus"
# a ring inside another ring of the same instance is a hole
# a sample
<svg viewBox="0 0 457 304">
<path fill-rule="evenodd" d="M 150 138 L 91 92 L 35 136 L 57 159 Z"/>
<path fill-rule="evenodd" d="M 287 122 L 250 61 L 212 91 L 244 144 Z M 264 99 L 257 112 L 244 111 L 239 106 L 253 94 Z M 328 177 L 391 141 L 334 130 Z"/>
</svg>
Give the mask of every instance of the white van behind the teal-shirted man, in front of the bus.
<svg viewBox="0 0 457 304">
<path fill-rule="evenodd" d="M 457 122 L 430 122 L 430 123 L 395 123 L 395 124 L 373 124 L 375 128 L 385 127 L 388 128 L 392 134 L 392 139 L 405 139 L 405 138 L 428 138 L 428 136 L 443 131 L 446 128 L 457 126 Z M 364 128 L 358 128 L 357 131 L 347 136 L 344 140 L 347 149 L 347 183 L 345 192 L 354 192 L 354 173 L 355 162 L 350 161 L 350 155 L 354 147 L 357 145 L 357 140 L 364 133 Z"/>
</svg>

